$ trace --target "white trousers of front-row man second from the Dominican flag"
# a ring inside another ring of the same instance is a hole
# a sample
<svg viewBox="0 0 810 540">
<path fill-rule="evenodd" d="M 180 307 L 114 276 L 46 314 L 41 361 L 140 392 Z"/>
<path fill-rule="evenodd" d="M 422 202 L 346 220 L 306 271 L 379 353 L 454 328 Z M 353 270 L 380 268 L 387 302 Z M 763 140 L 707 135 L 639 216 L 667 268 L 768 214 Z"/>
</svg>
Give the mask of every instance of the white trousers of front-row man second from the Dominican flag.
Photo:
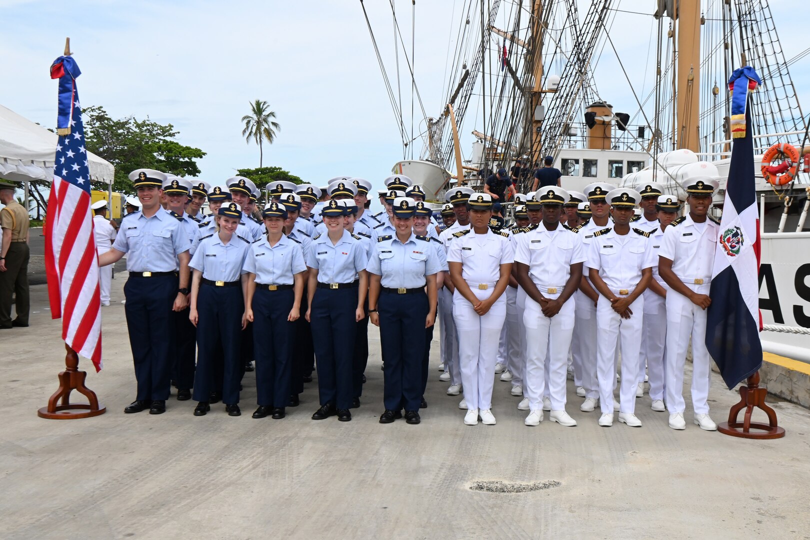
<svg viewBox="0 0 810 540">
<path fill-rule="evenodd" d="M 599 381 L 599 406 L 602 414 L 613 413 L 613 389 L 616 388 L 617 346 L 621 352 L 620 412 L 636 410 L 638 355 L 642 348 L 641 335 L 644 321 L 644 295 L 630 304 L 633 315 L 623 319 L 613 311 L 604 297 L 596 306 L 596 326 L 599 342 L 596 344 L 596 378 Z"/>
</svg>

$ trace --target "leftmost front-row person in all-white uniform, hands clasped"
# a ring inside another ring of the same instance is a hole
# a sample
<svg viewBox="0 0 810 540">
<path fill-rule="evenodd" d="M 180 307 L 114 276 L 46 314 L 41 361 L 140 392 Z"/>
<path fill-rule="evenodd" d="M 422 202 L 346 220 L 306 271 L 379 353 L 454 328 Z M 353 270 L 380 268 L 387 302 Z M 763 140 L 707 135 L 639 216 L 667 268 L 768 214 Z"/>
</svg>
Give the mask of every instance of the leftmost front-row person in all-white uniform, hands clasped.
<svg viewBox="0 0 810 540">
<path fill-rule="evenodd" d="M 479 415 L 486 425 L 492 415 L 492 384 L 498 336 L 506 318 L 503 293 L 509 283 L 514 254 L 509 233 L 492 232 L 492 197 L 472 195 L 471 229 L 454 233 L 447 264 L 453 279 L 453 318 L 458 332 L 458 363 L 461 368 L 467 415 L 464 423 L 475 425 Z"/>
</svg>

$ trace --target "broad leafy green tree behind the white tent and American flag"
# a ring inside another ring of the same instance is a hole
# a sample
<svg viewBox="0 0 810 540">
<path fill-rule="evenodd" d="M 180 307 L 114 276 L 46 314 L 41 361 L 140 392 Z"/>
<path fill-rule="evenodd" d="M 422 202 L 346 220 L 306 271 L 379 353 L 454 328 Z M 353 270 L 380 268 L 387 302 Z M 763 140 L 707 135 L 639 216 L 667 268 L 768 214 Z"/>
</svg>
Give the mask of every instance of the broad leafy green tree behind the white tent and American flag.
<svg viewBox="0 0 810 540">
<path fill-rule="evenodd" d="M 136 168 L 154 168 L 177 176 L 197 176 L 197 159 L 206 155 L 199 148 L 177 142 L 179 131 L 149 117 L 113 118 L 103 107 L 83 108 L 85 147 L 115 166 L 113 189 L 134 193 L 129 174 Z M 107 189 L 99 183 L 95 189 Z"/>
</svg>

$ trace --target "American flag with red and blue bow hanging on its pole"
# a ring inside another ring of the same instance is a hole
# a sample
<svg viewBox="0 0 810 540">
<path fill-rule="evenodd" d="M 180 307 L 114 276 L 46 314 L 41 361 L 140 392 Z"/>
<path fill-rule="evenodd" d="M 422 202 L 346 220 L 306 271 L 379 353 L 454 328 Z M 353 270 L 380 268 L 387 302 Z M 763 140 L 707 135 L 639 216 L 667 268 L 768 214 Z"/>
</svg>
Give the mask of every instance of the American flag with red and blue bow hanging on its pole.
<svg viewBox="0 0 810 540">
<path fill-rule="evenodd" d="M 59 140 L 45 221 L 45 271 L 51 316 L 62 317 L 62 339 L 101 369 L 101 301 L 96 239 L 90 212 L 90 168 L 73 58 L 58 57 Z"/>
</svg>

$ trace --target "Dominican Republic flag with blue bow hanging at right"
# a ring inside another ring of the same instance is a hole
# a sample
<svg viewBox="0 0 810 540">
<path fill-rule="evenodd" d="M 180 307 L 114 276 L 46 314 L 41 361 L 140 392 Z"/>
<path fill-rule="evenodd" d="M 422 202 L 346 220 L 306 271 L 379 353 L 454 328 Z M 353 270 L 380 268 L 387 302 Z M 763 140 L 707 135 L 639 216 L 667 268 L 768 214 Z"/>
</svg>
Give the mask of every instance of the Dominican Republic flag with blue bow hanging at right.
<svg viewBox="0 0 810 540">
<path fill-rule="evenodd" d="M 744 136 L 734 138 L 731 149 L 706 321 L 706 347 L 729 389 L 762 366 L 759 212 L 751 117 L 746 107 L 748 90 L 760 83 L 757 72 L 750 66 L 735 70 L 729 79 L 734 88 L 732 113 L 744 115 L 746 129 Z"/>
</svg>

